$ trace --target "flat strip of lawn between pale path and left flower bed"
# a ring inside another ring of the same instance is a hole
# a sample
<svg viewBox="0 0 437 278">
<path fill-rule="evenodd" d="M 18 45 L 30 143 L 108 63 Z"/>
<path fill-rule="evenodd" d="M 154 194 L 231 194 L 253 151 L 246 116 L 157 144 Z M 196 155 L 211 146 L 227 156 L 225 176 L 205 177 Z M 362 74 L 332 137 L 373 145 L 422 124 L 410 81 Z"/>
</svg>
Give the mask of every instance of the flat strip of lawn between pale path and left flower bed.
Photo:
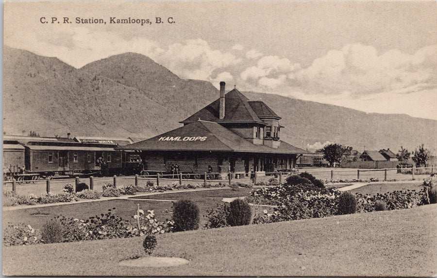
<svg viewBox="0 0 437 278">
<path fill-rule="evenodd" d="M 24 223 L 31 225 L 34 228 L 41 228 L 46 221 L 49 221 L 57 215 L 64 215 L 66 217 L 73 217 L 78 219 L 88 219 L 88 217 L 95 216 L 101 213 L 106 213 L 108 209 L 116 208 L 112 211 L 114 215 L 118 215 L 125 220 L 132 220 L 136 212 L 137 205 L 143 210 L 153 209 L 155 217 L 159 222 L 171 219 L 172 205 L 171 201 L 151 201 L 147 199 L 165 199 L 165 200 L 180 200 L 191 199 L 197 203 L 201 210 L 201 215 L 206 215 L 206 210 L 215 208 L 217 204 L 223 204 L 221 199 L 223 197 L 239 197 L 247 195 L 252 189 L 240 188 L 232 189 L 218 189 L 208 191 L 191 191 L 163 193 L 156 195 L 149 195 L 144 197 L 135 197 L 135 199 L 116 199 L 89 203 L 71 203 L 58 206 L 29 208 L 17 210 L 3 211 L 3 225 L 7 223 L 18 224 Z M 205 219 L 201 218 L 201 225 L 205 223 Z"/>
</svg>

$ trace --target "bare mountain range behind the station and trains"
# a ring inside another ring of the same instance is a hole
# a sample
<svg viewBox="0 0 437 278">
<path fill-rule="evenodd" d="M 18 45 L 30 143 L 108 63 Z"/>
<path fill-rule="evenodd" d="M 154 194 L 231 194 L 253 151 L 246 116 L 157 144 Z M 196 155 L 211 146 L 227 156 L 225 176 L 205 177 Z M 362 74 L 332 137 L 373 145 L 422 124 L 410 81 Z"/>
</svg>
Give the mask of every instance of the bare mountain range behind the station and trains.
<svg viewBox="0 0 437 278">
<path fill-rule="evenodd" d="M 53 57 L 4 48 L 3 130 L 6 134 L 151 137 L 180 127 L 218 98 L 211 83 L 184 80 L 137 53 L 75 69 Z M 229 90 L 229 88 L 227 88 Z M 419 144 L 436 148 L 437 121 L 365 113 L 341 106 L 245 92 L 262 100 L 285 126 L 281 139 L 305 148 L 337 142 L 362 151 Z"/>
</svg>

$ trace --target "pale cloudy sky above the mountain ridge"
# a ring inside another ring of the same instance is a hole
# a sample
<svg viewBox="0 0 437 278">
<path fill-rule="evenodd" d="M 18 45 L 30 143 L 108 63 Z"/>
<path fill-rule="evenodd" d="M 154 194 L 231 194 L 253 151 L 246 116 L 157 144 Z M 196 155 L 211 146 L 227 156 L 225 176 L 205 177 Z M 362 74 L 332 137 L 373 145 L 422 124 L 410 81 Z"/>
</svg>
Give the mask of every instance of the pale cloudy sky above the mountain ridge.
<svg viewBox="0 0 437 278">
<path fill-rule="evenodd" d="M 436 15 L 436 1 L 10 1 L 3 35 L 75 68 L 137 52 L 216 87 L 437 120 Z M 151 24 L 112 23 L 129 17 Z"/>
</svg>

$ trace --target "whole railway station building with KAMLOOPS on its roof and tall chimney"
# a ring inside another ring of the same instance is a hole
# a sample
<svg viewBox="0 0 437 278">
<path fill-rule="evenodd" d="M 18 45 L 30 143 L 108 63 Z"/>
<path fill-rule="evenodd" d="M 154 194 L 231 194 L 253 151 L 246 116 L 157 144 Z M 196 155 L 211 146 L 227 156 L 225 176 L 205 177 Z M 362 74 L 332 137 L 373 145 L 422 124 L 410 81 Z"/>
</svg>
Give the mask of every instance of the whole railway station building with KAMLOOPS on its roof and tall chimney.
<svg viewBox="0 0 437 278">
<path fill-rule="evenodd" d="M 235 88 L 225 93 L 220 82 L 219 98 L 181 121 L 184 126 L 118 149 L 138 151 L 149 174 L 173 165 L 182 173 L 287 171 L 307 151 L 280 139 L 280 120 L 264 102 Z"/>
</svg>

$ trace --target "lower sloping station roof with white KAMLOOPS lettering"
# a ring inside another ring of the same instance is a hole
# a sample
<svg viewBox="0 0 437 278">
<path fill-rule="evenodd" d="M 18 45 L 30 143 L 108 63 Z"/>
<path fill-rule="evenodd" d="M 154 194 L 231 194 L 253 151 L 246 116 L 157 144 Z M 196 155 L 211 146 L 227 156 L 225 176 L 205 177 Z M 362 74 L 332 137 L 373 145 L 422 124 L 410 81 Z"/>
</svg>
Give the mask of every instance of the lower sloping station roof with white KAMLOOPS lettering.
<svg viewBox="0 0 437 278">
<path fill-rule="evenodd" d="M 116 149 L 143 151 L 219 151 L 271 154 L 303 154 L 305 150 L 281 141 L 280 147 L 256 145 L 217 122 L 198 120 L 151 139 Z"/>
</svg>

